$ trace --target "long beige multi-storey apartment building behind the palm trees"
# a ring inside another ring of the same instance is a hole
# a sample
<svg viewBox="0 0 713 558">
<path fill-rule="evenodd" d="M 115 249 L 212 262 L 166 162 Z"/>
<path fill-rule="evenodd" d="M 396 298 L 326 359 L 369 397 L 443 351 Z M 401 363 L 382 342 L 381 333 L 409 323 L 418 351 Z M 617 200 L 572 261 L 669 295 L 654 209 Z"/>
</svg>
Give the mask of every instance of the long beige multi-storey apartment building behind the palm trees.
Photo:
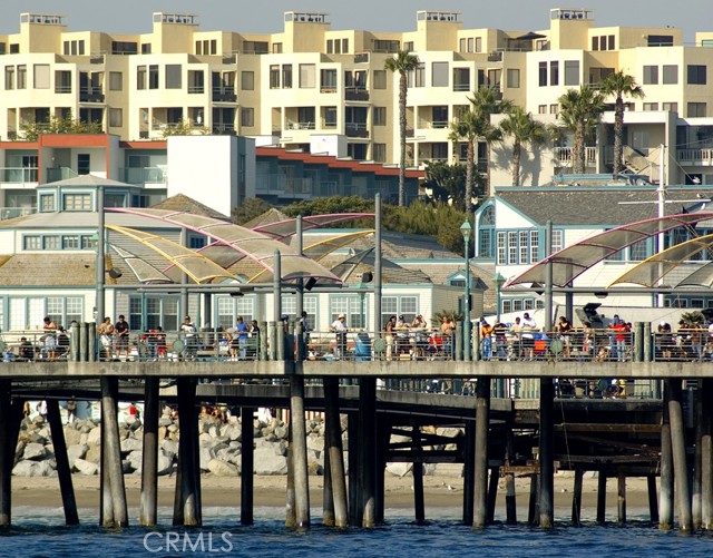
<svg viewBox="0 0 713 558">
<path fill-rule="evenodd" d="M 23 126 L 72 115 L 127 141 L 179 127 L 393 164 L 398 76 L 384 61 L 410 50 L 420 60 L 409 75 L 412 166 L 465 158 L 449 126 L 478 88 L 554 123 L 568 88 L 621 69 L 646 94 L 627 99 L 629 170 L 658 179 L 663 161 L 667 183 L 713 184 L 711 47 L 713 32 L 685 45 L 680 29 L 597 28 L 586 9 L 551 9 L 546 29 L 519 31 L 465 29 L 459 12 L 422 10 L 416 30 L 388 33 L 334 30 L 326 13 L 285 12 L 282 32 L 262 35 L 204 31 L 184 13 L 154 13 L 145 35 L 69 31 L 61 16 L 22 13 L 19 33 L 0 36 L 0 138 L 21 139 Z M 612 124 L 606 112 L 587 148 L 588 172 L 609 168 Z M 489 164 L 494 185 L 510 183 L 507 144 Z M 568 166 L 566 140 L 545 146 L 526 155 L 522 184 L 546 184 Z"/>
</svg>

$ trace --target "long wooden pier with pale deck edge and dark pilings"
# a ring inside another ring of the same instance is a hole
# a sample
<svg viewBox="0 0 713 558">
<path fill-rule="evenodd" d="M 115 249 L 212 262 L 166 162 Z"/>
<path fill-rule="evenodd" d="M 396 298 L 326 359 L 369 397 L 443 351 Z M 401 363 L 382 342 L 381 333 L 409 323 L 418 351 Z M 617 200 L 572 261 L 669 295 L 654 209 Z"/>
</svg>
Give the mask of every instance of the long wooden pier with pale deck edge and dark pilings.
<svg viewBox="0 0 713 558">
<path fill-rule="evenodd" d="M 589 389 L 603 376 L 628 382 L 634 389 L 626 399 L 592 397 Z M 538 399 L 492 397 L 501 381 L 512 379 L 538 385 Z M 561 379 L 576 379 L 575 386 L 580 388 L 565 393 Z M 176 526 L 203 525 L 202 507 L 211 502 L 201 495 L 197 412 L 202 401 L 225 401 L 240 407 L 248 419 L 257 407 L 290 410 L 287 526 L 314 522 L 305 458 L 304 413 L 309 410 L 325 417 L 325 525 L 370 527 L 383 521 L 384 467 L 401 461 L 413 463 L 417 521 L 427 519 L 423 464 L 453 462 L 463 463 L 463 522 L 477 528 L 492 521 L 500 478 L 508 523 L 553 527 L 554 474 L 569 470 L 574 471 L 574 525 L 582 512 L 583 476 L 596 471 L 598 520 L 604 521 L 606 479 L 617 479 L 617 518 L 624 523 L 626 478 L 644 477 L 653 522 L 680 532 L 711 529 L 712 380 L 709 363 L 651 360 L 16 362 L 0 366 L 0 523 L 11 522 L 11 471 L 22 405 L 41 399 L 48 401 L 66 522 L 78 521 L 71 474 L 61 457 L 66 449 L 57 401 L 79 393 L 101 401 L 98 521 L 107 527 L 129 525 L 117 430 L 117 402 L 123 400 L 145 404 L 140 523 L 146 526 L 157 520 L 159 401 L 176 404 L 182 418 L 196 418 L 180 422 Z M 340 430 L 344 414 L 346 448 Z M 462 428 L 466 435 L 453 449 L 440 449 L 453 440 L 427 433 L 424 427 Z M 243 430 L 243 473 L 236 487 L 241 493 L 236 521 L 243 525 L 254 521 L 252 452 L 245 451 L 253 443 L 248 430 Z M 401 441 L 390 443 L 392 434 Z M 516 476 L 531 479 L 527 518 L 516 516 Z"/>
</svg>

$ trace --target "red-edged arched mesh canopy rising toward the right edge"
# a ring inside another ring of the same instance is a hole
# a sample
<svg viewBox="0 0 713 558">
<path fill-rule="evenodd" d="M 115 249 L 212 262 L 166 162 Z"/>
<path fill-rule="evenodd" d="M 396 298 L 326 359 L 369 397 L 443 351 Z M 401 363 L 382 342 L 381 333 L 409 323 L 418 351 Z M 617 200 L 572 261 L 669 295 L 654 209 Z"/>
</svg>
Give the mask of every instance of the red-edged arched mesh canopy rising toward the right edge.
<svg viewBox="0 0 713 558">
<path fill-rule="evenodd" d="M 545 284 L 547 282 L 546 273 L 549 262 L 553 264 L 553 285 L 567 286 L 593 265 L 632 244 L 666 231 L 695 225 L 701 221 L 710 219 L 713 213 L 711 212 L 702 212 L 655 217 L 596 234 L 538 262 L 509 280 L 505 287 L 522 283 Z"/>
</svg>

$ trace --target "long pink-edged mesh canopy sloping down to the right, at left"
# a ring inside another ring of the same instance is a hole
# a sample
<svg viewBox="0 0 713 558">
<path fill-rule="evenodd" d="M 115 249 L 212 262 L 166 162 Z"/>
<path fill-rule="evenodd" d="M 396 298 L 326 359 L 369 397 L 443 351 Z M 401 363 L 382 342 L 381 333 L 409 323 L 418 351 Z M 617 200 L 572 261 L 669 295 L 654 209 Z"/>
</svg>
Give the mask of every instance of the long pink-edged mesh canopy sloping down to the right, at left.
<svg viewBox="0 0 713 558">
<path fill-rule="evenodd" d="M 261 276 L 263 281 L 272 281 L 274 255 L 275 251 L 279 251 L 281 254 L 282 281 L 290 282 L 300 278 L 315 277 L 322 281 L 341 283 L 340 278 L 323 265 L 310 260 L 309 257 L 297 255 L 293 247 L 240 225 L 226 223 L 213 217 L 203 217 L 199 215 L 172 212 L 168 209 L 120 207 L 111 209 L 107 208 L 107 211 L 143 215 L 164 223 L 185 227 L 189 231 L 204 234 L 209 238 L 214 238 L 219 244 L 215 246 L 216 249 L 202 251 L 199 256 L 223 268 L 224 274 L 227 273 L 225 272 L 226 267 L 229 267 L 243 257 L 247 257 L 265 268 L 266 273 Z M 193 251 L 192 253 L 197 255 L 197 253 Z M 174 263 L 178 265 L 178 262 Z M 164 270 L 164 273 L 168 274 L 168 271 Z M 234 276 L 232 274 L 228 275 L 231 277 Z"/>
</svg>

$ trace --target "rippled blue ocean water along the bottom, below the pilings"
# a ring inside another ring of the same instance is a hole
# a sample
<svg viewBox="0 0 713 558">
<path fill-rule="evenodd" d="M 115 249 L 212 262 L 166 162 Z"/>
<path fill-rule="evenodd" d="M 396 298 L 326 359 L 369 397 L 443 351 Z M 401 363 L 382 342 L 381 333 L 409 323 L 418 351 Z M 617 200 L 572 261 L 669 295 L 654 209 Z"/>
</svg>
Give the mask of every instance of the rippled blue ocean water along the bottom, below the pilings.
<svg viewBox="0 0 713 558">
<path fill-rule="evenodd" d="M 458 510 L 427 509 L 437 517 L 416 525 L 404 510 L 388 510 L 387 523 L 373 529 L 310 529 L 284 527 L 284 510 L 255 510 L 255 525 L 238 525 L 237 510 L 207 508 L 204 527 L 170 527 L 170 510 L 160 510 L 158 528 L 107 530 L 96 525 L 96 512 L 82 510 L 79 527 L 66 527 L 60 509 L 26 507 L 13 510 L 13 526 L 0 529 L 0 557 L 608 557 L 662 558 L 713 556 L 713 535 L 682 536 L 663 532 L 636 519 L 626 527 L 567 525 L 559 518 L 554 529 L 495 523 L 482 530 L 459 525 Z M 136 517 L 130 510 L 130 517 Z"/>
</svg>

